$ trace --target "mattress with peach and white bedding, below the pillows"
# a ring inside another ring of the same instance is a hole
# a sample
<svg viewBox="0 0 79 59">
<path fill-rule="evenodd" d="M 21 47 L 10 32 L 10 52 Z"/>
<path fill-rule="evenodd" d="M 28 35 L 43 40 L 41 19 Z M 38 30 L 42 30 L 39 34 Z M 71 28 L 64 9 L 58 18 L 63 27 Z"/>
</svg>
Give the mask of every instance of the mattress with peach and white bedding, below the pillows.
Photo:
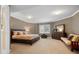
<svg viewBox="0 0 79 59">
<path fill-rule="evenodd" d="M 39 37 L 38 34 L 12 35 L 12 39 L 32 40 Z"/>
</svg>

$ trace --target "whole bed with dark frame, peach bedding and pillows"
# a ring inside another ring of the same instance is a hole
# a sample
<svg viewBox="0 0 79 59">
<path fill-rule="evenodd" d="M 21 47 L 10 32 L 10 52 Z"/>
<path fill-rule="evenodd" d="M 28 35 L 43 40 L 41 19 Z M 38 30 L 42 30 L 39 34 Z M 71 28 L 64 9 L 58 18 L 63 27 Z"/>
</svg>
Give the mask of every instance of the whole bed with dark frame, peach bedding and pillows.
<svg viewBox="0 0 79 59">
<path fill-rule="evenodd" d="M 26 34 L 24 30 L 11 30 L 11 43 L 25 43 L 32 45 L 40 39 L 38 34 Z"/>
</svg>

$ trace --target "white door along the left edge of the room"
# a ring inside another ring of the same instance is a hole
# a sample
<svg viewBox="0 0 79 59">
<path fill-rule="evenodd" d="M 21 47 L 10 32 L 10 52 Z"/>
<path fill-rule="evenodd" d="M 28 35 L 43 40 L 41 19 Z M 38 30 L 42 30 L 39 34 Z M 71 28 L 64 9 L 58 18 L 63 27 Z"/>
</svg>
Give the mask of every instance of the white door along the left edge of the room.
<svg viewBox="0 0 79 59">
<path fill-rule="evenodd" d="M 10 16 L 9 6 L 1 5 L 1 39 L 0 49 L 1 53 L 10 52 Z"/>
</svg>

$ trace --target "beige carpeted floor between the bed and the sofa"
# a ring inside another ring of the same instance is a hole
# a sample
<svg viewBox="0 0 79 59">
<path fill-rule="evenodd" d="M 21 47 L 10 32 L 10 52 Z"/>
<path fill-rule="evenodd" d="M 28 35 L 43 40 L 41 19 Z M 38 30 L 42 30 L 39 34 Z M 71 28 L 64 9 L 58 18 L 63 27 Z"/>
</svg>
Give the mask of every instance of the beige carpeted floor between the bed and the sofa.
<svg viewBox="0 0 79 59">
<path fill-rule="evenodd" d="M 11 44 L 11 54 L 74 54 L 60 40 L 43 39 L 35 42 L 32 46 L 28 44 L 13 43 Z"/>
</svg>

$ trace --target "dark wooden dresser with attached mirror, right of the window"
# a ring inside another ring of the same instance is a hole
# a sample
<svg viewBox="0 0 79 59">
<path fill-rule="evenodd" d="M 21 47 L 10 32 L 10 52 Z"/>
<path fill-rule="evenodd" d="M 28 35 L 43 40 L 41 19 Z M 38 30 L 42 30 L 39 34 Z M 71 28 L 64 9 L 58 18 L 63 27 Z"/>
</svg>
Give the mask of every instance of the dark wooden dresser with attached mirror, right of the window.
<svg viewBox="0 0 79 59">
<path fill-rule="evenodd" d="M 52 31 L 52 39 L 61 39 L 61 37 L 67 36 L 65 33 L 65 24 L 55 26 L 55 31 Z"/>
</svg>

